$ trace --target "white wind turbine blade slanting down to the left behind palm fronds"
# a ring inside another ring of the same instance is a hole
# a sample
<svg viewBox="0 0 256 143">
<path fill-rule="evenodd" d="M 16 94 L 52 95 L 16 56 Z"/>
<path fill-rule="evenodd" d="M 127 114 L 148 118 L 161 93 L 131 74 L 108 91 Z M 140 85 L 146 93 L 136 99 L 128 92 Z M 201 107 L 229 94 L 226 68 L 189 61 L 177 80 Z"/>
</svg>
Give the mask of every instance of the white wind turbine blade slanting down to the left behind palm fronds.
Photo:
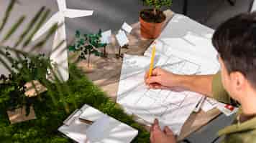
<svg viewBox="0 0 256 143">
<path fill-rule="evenodd" d="M 57 14 L 54 14 L 46 23 L 43 25 L 37 33 L 33 36 L 32 41 L 37 40 L 42 34 L 45 34 L 46 31 L 48 31 L 54 24 L 58 23 L 60 24 L 61 19 L 63 17 L 61 14 L 58 12 Z"/>
</svg>

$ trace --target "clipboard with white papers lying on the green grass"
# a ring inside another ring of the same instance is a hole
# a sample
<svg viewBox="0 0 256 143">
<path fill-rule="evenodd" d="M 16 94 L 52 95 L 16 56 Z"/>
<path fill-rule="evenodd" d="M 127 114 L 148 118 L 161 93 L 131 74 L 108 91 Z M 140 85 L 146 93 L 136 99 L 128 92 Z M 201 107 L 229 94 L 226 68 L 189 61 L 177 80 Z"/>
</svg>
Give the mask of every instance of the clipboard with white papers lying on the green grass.
<svg viewBox="0 0 256 143">
<path fill-rule="evenodd" d="M 58 131 L 78 143 L 129 143 L 138 134 L 137 129 L 87 104 L 70 114 Z"/>
</svg>

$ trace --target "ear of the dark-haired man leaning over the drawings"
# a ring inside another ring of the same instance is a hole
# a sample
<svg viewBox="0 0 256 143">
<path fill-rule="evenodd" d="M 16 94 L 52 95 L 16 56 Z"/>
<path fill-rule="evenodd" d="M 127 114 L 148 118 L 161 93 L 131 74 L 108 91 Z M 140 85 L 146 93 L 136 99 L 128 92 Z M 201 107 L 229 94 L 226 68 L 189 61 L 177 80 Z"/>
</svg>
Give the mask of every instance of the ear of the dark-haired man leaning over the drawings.
<svg viewBox="0 0 256 143">
<path fill-rule="evenodd" d="M 239 71 L 234 71 L 230 73 L 230 79 L 232 87 L 234 87 L 234 89 L 236 89 L 237 91 L 244 89 L 244 84 L 246 83 L 244 74 Z"/>
</svg>

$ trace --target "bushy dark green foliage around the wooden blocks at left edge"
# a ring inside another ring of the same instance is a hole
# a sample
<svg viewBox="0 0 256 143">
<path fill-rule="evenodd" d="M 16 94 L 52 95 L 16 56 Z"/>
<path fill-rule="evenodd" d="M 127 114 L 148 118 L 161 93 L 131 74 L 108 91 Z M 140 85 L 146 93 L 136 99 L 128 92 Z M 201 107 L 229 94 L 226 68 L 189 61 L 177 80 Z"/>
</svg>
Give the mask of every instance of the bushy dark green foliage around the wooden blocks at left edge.
<svg viewBox="0 0 256 143">
<path fill-rule="evenodd" d="M 9 51 L 6 51 L 6 57 L 12 59 Z M 30 56 L 29 59 L 24 56 L 21 61 L 12 60 L 12 72 L 6 77 L 1 74 L 0 80 L 0 104 L 6 104 L 6 109 L 14 110 L 19 107 L 26 107 L 26 115 L 29 114 L 29 107 L 35 98 L 29 98 L 24 93 L 27 82 L 37 80 L 44 81 L 47 67 L 50 66 L 49 59 L 45 55 Z M 19 71 L 19 72 L 17 72 Z M 45 82 L 45 81 L 44 81 Z M 35 85 L 34 85 L 35 86 Z M 7 89 L 7 90 L 6 90 Z M 37 90 L 36 90 L 37 92 Z M 6 95 L 9 95 L 6 97 Z"/>
</svg>

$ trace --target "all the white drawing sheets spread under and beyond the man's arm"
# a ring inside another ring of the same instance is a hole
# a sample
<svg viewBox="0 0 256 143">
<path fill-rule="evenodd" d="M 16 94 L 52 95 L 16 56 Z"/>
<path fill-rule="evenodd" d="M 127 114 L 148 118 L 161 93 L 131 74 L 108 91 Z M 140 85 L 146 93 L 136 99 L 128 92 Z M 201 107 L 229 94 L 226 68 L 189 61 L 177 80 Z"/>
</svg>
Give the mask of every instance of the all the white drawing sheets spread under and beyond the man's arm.
<svg viewBox="0 0 256 143">
<path fill-rule="evenodd" d="M 211 44 L 213 32 L 186 16 L 175 14 L 155 40 L 155 66 L 174 74 L 215 74 L 219 62 Z M 178 88 L 147 89 L 144 75 L 150 65 L 151 51 L 152 45 L 145 56 L 124 56 L 117 102 L 128 114 L 136 114 L 149 123 L 157 118 L 160 126 L 168 126 L 180 134 L 202 95 Z"/>
</svg>

